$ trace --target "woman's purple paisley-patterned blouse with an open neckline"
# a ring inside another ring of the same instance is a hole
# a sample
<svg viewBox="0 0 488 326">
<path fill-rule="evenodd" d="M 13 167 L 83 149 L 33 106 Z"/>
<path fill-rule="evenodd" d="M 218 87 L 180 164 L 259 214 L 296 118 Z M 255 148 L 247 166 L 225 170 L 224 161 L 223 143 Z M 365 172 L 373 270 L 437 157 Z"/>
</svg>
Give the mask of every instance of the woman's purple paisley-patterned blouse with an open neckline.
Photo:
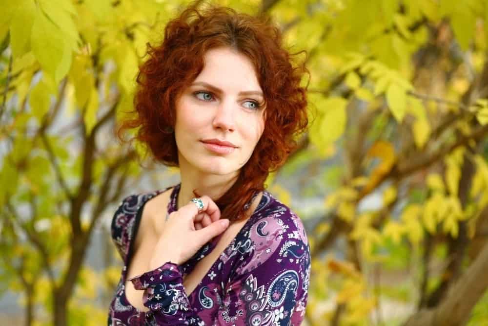
<svg viewBox="0 0 488 326">
<path fill-rule="evenodd" d="M 140 311 L 127 301 L 127 265 L 142 209 L 167 189 L 128 196 L 115 212 L 112 238 L 124 266 L 108 325 L 300 325 L 308 297 L 310 247 L 300 218 L 267 191 L 189 296 L 183 276 L 212 251 L 221 236 L 180 265 L 166 262 L 130 280 L 136 289 L 144 290 L 143 304 L 149 311 Z M 171 192 L 168 214 L 176 209 L 179 190 L 180 184 Z"/>
</svg>

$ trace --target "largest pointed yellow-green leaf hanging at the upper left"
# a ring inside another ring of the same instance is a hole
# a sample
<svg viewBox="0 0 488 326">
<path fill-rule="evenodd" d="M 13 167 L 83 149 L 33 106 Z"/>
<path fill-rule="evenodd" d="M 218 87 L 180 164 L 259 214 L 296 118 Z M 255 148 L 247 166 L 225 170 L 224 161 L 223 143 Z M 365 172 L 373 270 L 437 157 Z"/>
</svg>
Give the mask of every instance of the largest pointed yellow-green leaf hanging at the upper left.
<svg viewBox="0 0 488 326">
<path fill-rule="evenodd" d="M 56 84 L 66 75 L 71 65 L 70 44 L 61 30 L 42 11 L 38 11 L 32 28 L 32 50 L 42 69 L 54 78 Z"/>
</svg>

